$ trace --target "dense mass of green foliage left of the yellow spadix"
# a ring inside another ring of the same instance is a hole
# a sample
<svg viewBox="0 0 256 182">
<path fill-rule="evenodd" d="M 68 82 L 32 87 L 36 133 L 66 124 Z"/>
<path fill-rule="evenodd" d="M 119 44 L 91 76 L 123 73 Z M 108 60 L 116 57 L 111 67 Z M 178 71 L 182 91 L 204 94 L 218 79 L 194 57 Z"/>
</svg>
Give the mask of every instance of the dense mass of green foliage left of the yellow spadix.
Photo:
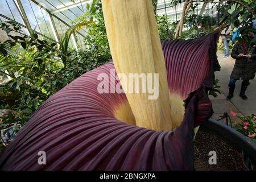
<svg viewBox="0 0 256 182">
<path fill-rule="evenodd" d="M 9 81 L 0 85 L 0 110 L 11 113 L 0 117 L 2 133 L 15 134 L 30 115 L 52 94 L 82 74 L 111 60 L 101 1 L 88 4 L 87 12 L 69 28 L 58 47 L 56 43 L 28 36 L 15 22 L 1 23 L 9 40 L 0 43 L 0 72 Z M 68 48 L 71 35 L 86 27 L 85 49 Z M 14 36 L 15 35 L 15 36 Z"/>
</svg>

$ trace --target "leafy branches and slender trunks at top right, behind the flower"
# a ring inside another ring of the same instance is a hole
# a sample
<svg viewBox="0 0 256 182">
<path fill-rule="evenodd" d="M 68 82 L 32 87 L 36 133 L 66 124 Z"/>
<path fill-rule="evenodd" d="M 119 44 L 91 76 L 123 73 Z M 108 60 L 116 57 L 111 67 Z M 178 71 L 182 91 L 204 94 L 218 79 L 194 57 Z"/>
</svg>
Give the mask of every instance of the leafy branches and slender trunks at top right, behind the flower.
<svg viewBox="0 0 256 182">
<path fill-rule="evenodd" d="M 203 2 L 203 6 L 197 1 L 193 0 L 172 0 L 172 5 L 179 5 L 180 3 L 184 3 L 183 12 L 181 14 L 181 18 L 179 22 L 176 23 L 176 32 L 175 38 L 195 38 L 196 36 L 200 36 L 198 34 L 199 26 L 202 29 L 202 32 L 210 32 L 216 26 L 217 17 L 211 17 L 210 14 L 213 14 L 213 10 L 217 10 L 220 12 L 220 23 L 218 26 L 226 25 L 226 26 L 251 26 L 252 20 L 256 18 L 256 1 L 253 0 L 225 0 L 225 1 L 198 1 Z M 210 7 L 209 7 L 210 3 Z M 198 10 L 198 7 L 203 10 Z M 207 7 L 207 9 L 206 9 Z M 204 10 L 207 10 L 207 15 L 203 15 Z M 182 28 L 185 28 L 183 30 Z M 181 29 L 181 30 L 180 30 Z M 180 31 L 179 31 L 180 30 Z M 182 31 L 183 30 L 183 31 Z M 183 35 L 184 32 L 189 32 L 187 35 Z M 197 30 L 197 34 L 195 33 Z M 190 35 L 191 36 L 188 36 Z"/>
</svg>

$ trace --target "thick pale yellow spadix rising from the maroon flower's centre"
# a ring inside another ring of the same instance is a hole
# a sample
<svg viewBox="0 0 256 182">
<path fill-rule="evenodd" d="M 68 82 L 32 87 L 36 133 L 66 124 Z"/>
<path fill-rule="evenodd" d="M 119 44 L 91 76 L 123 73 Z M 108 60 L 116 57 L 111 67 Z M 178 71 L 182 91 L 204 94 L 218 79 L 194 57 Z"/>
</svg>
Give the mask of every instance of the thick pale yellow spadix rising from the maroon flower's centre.
<svg viewBox="0 0 256 182">
<path fill-rule="evenodd" d="M 117 73 L 159 74 L 155 100 L 148 99 L 148 92 L 126 93 L 135 124 L 172 130 L 166 67 L 151 0 L 102 0 L 102 8 Z M 129 89 L 123 80 L 121 84 Z"/>
</svg>

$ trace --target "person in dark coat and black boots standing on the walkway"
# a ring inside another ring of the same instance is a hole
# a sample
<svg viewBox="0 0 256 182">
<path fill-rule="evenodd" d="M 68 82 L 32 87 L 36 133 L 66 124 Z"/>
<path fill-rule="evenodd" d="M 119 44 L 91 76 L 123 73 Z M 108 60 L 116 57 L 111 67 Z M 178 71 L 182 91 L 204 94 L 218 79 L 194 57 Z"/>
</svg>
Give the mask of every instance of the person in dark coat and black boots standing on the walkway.
<svg viewBox="0 0 256 182">
<path fill-rule="evenodd" d="M 231 56 L 236 59 L 233 71 L 229 81 L 229 95 L 226 100 L 230 100 L 234 96 L 234 89 L 236 87 L 236 81 L 242 78 L 242 86 L 240 91 L 240 97 L 243 100 L 247 100 L 245 91 L 247 86 L 250 85 L 249 80 L 254 79 L 256 72 L 256 48 L 255 42 L 252 42 L 254 33 L 249 29 L 243 28 L 240 31 L 242 35 L 238 42 L 232 49 Z"/>
</svg>

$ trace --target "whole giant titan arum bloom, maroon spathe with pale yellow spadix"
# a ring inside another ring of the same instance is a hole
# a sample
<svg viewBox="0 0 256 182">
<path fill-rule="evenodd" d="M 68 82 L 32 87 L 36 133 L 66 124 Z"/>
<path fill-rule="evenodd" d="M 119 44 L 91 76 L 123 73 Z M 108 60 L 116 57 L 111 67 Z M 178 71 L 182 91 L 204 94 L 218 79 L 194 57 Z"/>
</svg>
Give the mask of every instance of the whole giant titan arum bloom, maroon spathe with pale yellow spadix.
<svg viewBox="0 0 256 182">
<path fill-rule="evenodd" d="M 220 69 L 218 31 L 161 44 L 151 0 L 102 0 L 102 6 L 114 63 L 85 73 L 44 102 L 6 148 L 1 169 L 194 169 L 193 128 L 213 113 L 207 90 Z M 102 82 L 118 84 L 111 80 L 117 73 L 158 73 L 158 99 L 99 93 Z M 108 79 L 98 80 L 101 74 Z M 40 151 L 45 165 L 38 163 Z"/>
</svg>

